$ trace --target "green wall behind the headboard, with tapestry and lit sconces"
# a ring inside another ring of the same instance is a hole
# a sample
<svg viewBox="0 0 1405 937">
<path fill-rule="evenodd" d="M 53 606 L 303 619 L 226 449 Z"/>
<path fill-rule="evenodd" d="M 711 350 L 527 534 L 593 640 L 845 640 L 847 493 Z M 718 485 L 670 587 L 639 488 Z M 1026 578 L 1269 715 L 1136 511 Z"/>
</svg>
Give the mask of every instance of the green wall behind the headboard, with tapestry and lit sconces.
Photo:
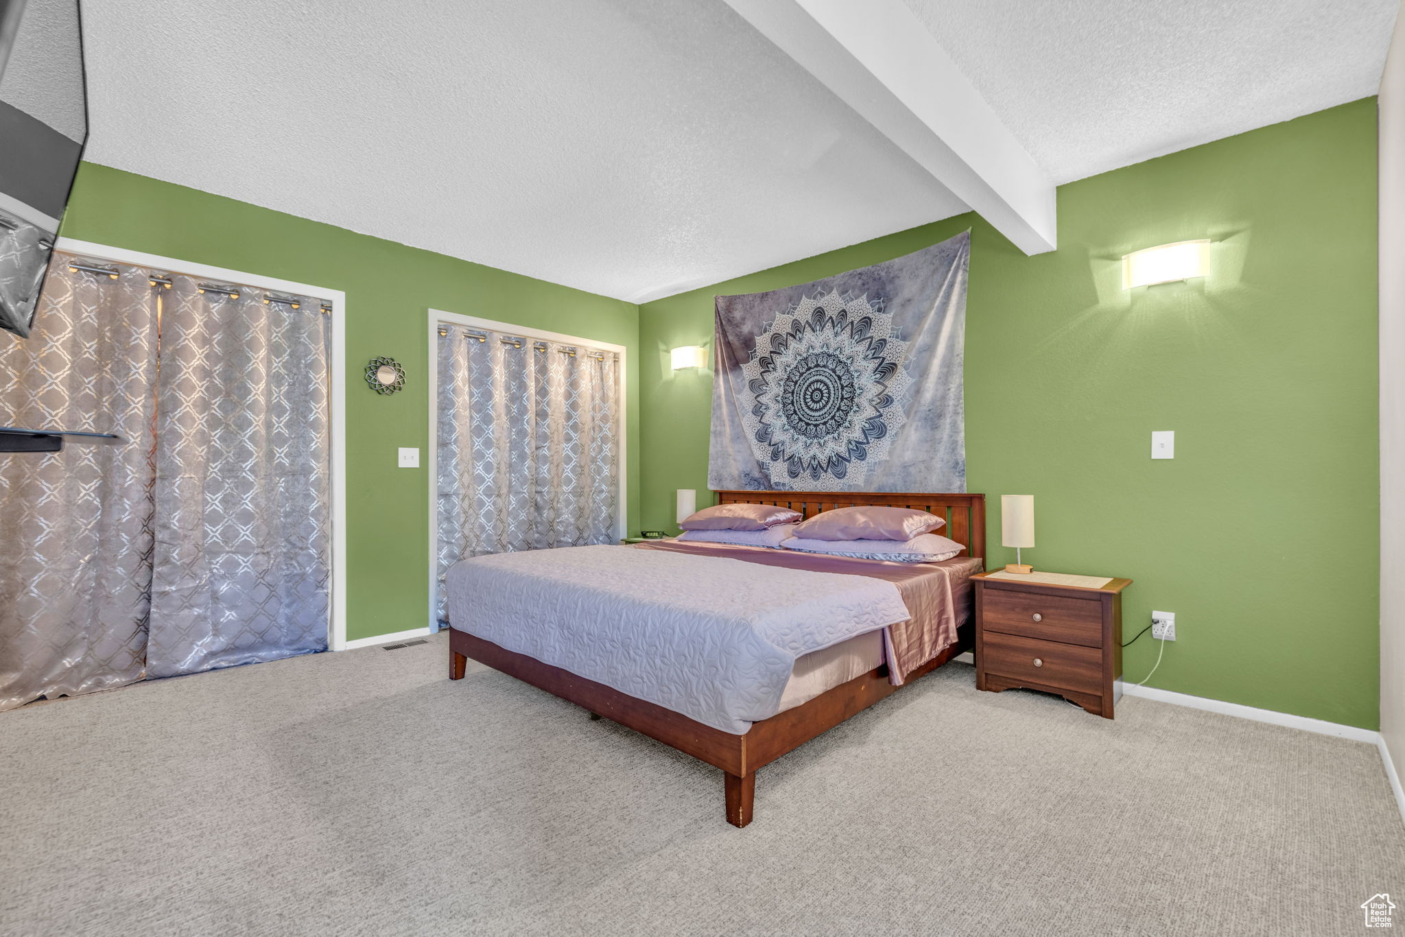
<svg viewBox="0 0 1405 937">
<path fill-rule="evenodd" d="M 1375 100 L 1064 185 L 1058 243 L 1026 257 L 974 215 L 646 303 L 639 310 L 646 528 L 707 489 L 714 294 L 878 263 L 972 229 L 967 472 L 1034 494 L 1037 568 L 1128 576 L 1177 641 L 1149 686 L 1377 725 Z M 1121 289 L 1123 254 L 1211 237 L 1203 281 Z M 1176 458 L 1151 461 L 1151 431 Z M 1124 653 L 1131 681 L 1156 656 Z"/>
</svg>

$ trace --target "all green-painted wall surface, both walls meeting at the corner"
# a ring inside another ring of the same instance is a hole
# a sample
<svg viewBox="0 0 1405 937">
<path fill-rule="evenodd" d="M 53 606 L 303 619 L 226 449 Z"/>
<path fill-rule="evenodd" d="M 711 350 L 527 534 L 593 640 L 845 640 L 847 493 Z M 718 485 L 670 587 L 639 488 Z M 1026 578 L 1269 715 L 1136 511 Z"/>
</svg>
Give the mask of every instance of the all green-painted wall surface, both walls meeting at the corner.
<svg viewBox="0 0 1405 937">
<path fill-rule="evenodd" d="M 395 468 L 429 443 L 427 309 L 627 346 L 629 525 L 672 528 L 674 489 L 705 503 L 711 374 L 667 351 L 711 346 L 712 295 L 969 228 L 967 469 L 991 542 L 998 496 L 1031 493 L 1038 568 L 1135 579 L 1128 638 L 1177 614 L 1151 686 L 1375 728 L 1374 98 L 1064 185 L 1058 208 L 1037 257 L 964 215 L 641 308 L 93 164 L 63 233 L 346 291 L 357 639 L 429 617 L 429 478 Z M 1124 253 L 1191 237 L 1215 240 L 1208 278 L 1121 289 Z M 381 354 L 405 392 L 358 384 Z M 1151 430 L 1176 431 L 1176 459 L 1151 461 Z M 1130 680 L 1156 649 L 1127 649 Z"/>
</svg>

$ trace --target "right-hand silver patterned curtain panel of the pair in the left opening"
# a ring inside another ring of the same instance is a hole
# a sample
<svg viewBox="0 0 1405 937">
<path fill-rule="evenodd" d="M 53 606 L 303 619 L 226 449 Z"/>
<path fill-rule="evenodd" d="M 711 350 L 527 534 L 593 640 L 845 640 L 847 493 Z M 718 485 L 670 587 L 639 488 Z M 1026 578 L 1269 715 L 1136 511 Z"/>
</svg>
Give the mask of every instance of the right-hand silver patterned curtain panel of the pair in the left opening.
<svg viewBox="0 0 1405 937">
<path fill-rule="evenodd" d="M 330 317 L 306 296 L 171 280 L 148 671 L 326 650 Z"/>
</svg>

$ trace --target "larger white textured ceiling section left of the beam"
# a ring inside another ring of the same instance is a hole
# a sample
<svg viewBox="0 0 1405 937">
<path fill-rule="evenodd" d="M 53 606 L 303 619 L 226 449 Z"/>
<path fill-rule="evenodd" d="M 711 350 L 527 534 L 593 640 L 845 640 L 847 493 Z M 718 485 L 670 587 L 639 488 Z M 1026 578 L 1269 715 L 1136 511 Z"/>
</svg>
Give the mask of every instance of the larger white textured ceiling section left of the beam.
<svg viewBox="0 0 1405 937">
<path fill-rule="evenodd" d="M 608 296 L 964 209 L 719 0 L 84 15 L 87 159 Z"/>
</svg>

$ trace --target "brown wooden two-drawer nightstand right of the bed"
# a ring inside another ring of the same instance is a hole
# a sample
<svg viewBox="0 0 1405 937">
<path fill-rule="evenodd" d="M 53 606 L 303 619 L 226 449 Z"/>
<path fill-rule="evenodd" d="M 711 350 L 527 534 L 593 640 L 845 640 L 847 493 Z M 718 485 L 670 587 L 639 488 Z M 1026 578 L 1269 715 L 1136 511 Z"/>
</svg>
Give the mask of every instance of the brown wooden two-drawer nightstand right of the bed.
<svg viewBox="0 0 1405 937">
<path fill-rule="evenodd" d="M 999 572 L 971 577 L 976 690 L 1057 693 L 1111 719 L 1121 695 L 1123 590 L 1132 580 L 1093 589 L 1041 583 L 1038 573 L 992 579 Z"/>
</svg>

